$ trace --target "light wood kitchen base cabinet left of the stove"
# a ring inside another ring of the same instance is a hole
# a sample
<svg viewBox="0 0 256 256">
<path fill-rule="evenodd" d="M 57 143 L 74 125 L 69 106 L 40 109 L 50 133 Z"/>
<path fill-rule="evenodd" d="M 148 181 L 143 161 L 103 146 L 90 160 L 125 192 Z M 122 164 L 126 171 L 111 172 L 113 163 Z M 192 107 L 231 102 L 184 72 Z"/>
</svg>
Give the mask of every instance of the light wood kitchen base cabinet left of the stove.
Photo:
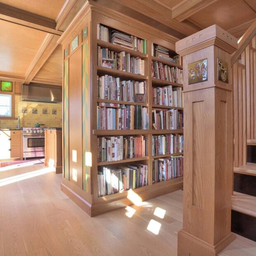
<svg viewBox="0 0 256 256">
<path fill-rule="evenodd" d="M 0 130 L 0 161 L 22 159 L 22 131 Z"/>
</svg>

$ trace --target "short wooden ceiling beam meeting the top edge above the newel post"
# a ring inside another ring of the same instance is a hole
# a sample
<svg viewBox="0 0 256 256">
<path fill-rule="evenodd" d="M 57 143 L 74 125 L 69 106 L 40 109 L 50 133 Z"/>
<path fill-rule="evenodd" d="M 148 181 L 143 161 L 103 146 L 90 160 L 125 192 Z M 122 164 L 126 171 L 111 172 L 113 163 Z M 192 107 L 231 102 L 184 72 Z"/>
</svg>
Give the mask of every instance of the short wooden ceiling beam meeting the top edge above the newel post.
<svg viewBox="0 0 256 256">
<path fill-rule="evenodd" d="M 217 0 L 184 0 L 172 8 L 172 18 L 176 21 L 184 21 L 206 6 Z"/>
</svg>

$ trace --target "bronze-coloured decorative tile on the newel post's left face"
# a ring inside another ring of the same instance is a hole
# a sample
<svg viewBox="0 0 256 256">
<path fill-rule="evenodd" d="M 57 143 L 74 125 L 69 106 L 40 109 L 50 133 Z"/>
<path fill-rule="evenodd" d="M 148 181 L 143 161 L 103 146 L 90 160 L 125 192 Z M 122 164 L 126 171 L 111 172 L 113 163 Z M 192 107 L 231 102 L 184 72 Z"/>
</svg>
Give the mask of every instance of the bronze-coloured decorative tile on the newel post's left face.
<svg viewBox="0 0 256 256">
<path fill-rule="evenodd" d="M 207 59 L 188 64 L 188 84 L 205 82 L 208 80 Z"/>
</svg>

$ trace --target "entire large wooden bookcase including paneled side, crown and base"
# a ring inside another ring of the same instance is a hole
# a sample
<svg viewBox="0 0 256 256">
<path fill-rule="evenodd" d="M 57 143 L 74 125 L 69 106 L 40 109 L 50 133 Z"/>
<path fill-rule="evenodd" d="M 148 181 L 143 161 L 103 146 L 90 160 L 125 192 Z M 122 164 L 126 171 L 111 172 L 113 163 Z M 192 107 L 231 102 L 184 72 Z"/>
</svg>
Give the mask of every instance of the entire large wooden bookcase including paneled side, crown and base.
<svg viewBox="0 0 256 256">
<path fill-rule="evenodd" d="M 177 56 L 175 38 L 120 14 L 90 8 L 79 13 L 60 40 L 64 50 L 62 190 L 94 216 L 134 203 L 131 195 L 143 201 L 183 187 L 182 172 L 160 176 L 153 171 L 166 158 L 183 157 L 181 147 L 171 148 L 183 136 L 183 104 L 178 98 L 183 85 L 170 75 L 172 68 L 182 70 L 182 65 L 152 51 L 160 45 L 168 49 L 169 57 Z M 169 72 L 170 81 L 152 76 L 153 62 Z M 166 92 L 172 93 L 171 101 Z M 153 152 L 160 138 L 162 150 Z M 128 179 L 130 175 L 135 180 Z M 168 178 L 160 182 L 156 176 Z"/>
</svg>

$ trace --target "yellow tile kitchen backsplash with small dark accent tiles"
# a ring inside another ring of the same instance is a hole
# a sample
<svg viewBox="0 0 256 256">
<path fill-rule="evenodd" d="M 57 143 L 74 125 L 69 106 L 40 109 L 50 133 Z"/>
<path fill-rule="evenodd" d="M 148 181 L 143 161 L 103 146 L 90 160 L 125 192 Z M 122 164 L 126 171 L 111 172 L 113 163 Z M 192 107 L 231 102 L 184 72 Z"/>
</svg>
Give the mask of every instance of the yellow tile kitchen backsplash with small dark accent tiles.
<svg viewBox="0 0 256 256">
<path fill-rule="evenodd" d="M 26 102 L 21 101 L 20 95 L 15 95 L 15 117 L 20 117 L 21 127 L 33 127 L 35 123 L 45 124 L 43 127 L 62 127 L 62 104 Z M 27 113 L 22 113 L 26 107 Z M 37 109 L 37 114 L 32 114 L 32 109 Z M 43 114 L 43 109 L 47 109 L 47 114 Z M 57 114 L 52 114 L 52 109 L 57 110 Z M 0 119 L 0 128 L 16 128 L 18 120 Z"/>
</svg>

